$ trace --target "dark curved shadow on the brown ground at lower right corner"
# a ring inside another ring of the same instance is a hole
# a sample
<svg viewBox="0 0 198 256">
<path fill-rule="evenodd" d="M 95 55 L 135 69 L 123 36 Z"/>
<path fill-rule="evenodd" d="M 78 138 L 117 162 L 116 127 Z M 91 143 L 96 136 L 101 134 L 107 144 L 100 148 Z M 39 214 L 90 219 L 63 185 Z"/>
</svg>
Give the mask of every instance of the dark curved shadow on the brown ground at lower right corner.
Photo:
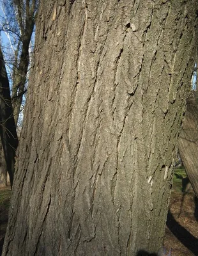
<svg viewBox="0 0 198 256">
<path fill-rule="evenodd" d="M 194 255 L 198 255 L 198 239 L 175 220 L 170 210 L 167 215 L 167 227 L 188 250 Z"/>
</svg>

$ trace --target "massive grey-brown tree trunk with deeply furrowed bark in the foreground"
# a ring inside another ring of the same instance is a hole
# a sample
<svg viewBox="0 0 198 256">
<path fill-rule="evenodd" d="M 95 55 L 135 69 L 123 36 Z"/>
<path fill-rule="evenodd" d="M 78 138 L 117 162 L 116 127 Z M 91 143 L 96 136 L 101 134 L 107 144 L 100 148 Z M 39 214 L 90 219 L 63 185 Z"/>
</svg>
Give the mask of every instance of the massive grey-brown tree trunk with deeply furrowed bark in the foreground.
<svg viewBox="0 0 198 256">
<path fill-rule="evenodd" d="M 3 256 L 160 248 L 196 4 L 40 1 Z"/>
</svg>

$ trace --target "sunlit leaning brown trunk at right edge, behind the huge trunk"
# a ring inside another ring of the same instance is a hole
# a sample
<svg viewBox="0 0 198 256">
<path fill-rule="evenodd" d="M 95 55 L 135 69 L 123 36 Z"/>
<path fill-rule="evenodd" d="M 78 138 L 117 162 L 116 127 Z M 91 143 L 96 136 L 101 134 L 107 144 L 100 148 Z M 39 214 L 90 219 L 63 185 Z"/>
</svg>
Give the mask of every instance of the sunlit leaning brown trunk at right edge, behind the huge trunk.
<svg viewBox="0 0 198 256">
<path fill-rule="evenodd" d="M 197 93 L 187 101 L 187 112 L 179 136 L 179 153 L 188 179 L 198 197 L 198 108 Z"/>
</svg>

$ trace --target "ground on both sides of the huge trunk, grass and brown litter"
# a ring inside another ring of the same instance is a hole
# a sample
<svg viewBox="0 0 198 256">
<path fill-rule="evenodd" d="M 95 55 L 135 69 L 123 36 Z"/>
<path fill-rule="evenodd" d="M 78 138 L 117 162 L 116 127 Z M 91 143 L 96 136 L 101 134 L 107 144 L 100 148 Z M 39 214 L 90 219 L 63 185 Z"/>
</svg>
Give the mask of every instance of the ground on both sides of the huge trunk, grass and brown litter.
<svg viewBox="0 0 198 256">
<path fill-rule="evenodd" d="M 0 256 L 8 222 L 10 195 L 9 186 L 0 188 Z M 164 246 L 172 248 L 171 256 L 198 256 L 198 200 L 186 182 L 184 170 L 174 172 Z"/>
</svg>

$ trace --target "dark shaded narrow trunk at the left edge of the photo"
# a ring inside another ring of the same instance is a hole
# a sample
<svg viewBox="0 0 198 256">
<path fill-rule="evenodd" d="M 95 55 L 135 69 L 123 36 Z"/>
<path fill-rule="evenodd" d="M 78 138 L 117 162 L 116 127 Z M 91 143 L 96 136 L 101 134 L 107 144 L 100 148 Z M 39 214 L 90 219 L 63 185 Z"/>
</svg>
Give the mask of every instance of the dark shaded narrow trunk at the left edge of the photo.
<svg viewBox="0 0 198 256">
<path fill-rule="evenodd" d="M 10 87 L 0 47 L 0 135 L 10 184 L 13 184 L 18 137 L 11 106 Z"/>
</svg>

